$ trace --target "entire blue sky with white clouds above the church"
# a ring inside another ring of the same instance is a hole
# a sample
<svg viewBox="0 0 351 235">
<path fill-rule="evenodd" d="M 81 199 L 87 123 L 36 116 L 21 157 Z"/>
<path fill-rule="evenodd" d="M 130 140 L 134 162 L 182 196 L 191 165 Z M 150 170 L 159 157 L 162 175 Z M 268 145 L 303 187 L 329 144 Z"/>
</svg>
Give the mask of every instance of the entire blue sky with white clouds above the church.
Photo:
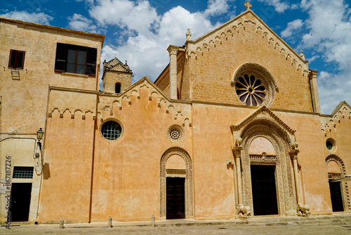
<svg viewBox="0 0 351 235">
<path fill-rule="evenodd" d="M 246 10 L 243 0 L 1 0 L 0 15 L 105 35 L 102 61 L 128 61 L 133 82 L 156 80 L 169 44 L 182 46 Z M 256 0 L 251 10 L 318 70 L 322 113 L 351 104 L 351 1 Z"/>
</svg>

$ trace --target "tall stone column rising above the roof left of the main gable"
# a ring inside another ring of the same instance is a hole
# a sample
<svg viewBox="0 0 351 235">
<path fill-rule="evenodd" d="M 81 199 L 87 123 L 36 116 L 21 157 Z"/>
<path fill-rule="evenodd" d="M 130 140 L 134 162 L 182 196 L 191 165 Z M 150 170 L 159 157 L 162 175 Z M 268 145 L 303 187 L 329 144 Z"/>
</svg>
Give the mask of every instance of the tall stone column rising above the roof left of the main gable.
<svg viewBox="0 0 351 235">
<path fill-rule="evenodd" d="M 177 52 L 179 46 L 168 46 L 169 53 L 169 87 L 170 98 L 178 99 L 177 97 Z"/>
</svg>

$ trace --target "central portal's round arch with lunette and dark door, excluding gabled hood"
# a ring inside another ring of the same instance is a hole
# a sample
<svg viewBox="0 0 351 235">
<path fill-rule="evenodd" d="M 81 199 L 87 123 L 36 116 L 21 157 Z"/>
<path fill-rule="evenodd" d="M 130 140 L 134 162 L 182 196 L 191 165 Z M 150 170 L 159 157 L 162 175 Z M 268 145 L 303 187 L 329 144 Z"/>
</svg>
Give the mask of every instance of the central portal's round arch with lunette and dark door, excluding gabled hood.
<svg viewBox="0 0 351 235">
<path fill-rule="evenodd" d="M 256 120 L 241 136 L 244 205 L 251 205 L 253 215 L 296 215 L 293 166 L 282 129 Z"/>
</svg>

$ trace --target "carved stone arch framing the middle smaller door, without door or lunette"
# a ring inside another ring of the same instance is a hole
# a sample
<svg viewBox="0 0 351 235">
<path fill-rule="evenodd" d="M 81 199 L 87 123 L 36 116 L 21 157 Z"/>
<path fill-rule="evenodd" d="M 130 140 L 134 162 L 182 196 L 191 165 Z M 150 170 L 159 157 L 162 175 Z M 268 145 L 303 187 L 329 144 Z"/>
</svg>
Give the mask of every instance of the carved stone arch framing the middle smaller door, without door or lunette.
<svg viewBox="0 0 351 235">
<path fill-rule="evenodd" d="M 166 177 L 167 172 L 166 163 L 168 158 L 173 155 L 178 155 L 183 158 L 185 163 L 185 219 L 192 219 L 194 216 L 193 206 L 193 178 L 192 178 L 192 159 L 185 149 L 180 147 L 168 148 L 161 156 L 160 160 L 160 220 L 166 220 Z M 172 170 L 171 174 L 177 172 Z M 182 173 L 181 171 L 179 172 Z"/>
</svg>

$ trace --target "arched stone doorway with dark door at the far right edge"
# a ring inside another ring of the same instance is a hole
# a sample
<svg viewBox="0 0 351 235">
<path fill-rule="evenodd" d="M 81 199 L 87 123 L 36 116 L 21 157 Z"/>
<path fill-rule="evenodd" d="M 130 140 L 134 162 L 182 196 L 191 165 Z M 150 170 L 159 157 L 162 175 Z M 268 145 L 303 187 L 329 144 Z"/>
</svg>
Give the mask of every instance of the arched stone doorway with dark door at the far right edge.
<svg viewBox="0 0 351 235">
<path fill-rule="evenodd" d="M 346 182 L 330 182 L 332 179 L 345 177 L 345 165 L 338 155 L 330 154 L 326 157 L 326 169 L 329 177 L 331 206 L 333 212 L 350 211 L 350 197 Z"/>
</svg>

